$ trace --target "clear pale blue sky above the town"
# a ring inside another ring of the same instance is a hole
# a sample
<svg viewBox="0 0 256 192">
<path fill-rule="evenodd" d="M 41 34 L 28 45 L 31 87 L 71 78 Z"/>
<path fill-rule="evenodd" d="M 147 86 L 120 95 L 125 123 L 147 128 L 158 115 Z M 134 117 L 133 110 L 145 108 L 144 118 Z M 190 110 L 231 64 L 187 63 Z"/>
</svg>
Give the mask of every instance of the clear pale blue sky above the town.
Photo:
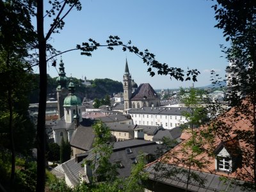
<svg viewBox="0 0 256 192">
<path fill-rule="evenodd" d="M 45 1 L 45 8 L 49 8 Z M 214 28 L 212 1 L 207 0 L 82 0 L 82 10 L 72 10 L 65 18 L 65 26 L 59 34 L 51 36 L 57 50 L 73 49 L 77 44 L 93 38 L 104 44 L 109 35 L 117 35 L 122 42 L 131 40 L 140 50 L 156 55 L 156 60 L 169 67 L 196 68 L 201 74 L 195 87 L 211 84 L 210 71 L 214 69 L 225 77 L 228 61 L 220 44 L 228 45 L 221 29 Z M 45 33 L 51 18 L 45 17 Z M 62 54 L 66 76 L 87 79 L 109 78 L 121 81 L 125 59 L 132 79 L 139 85 L 150 83 L 155 89 L 189 87 L 193 81 L 180 82 L 170 76 L 151 77 L 148 66 L 131 52 L 116 47 L 106 47 L 92 52 L 92 57 L 81 56 L 79 51 Z M 60 63 L 60 56 L 56 57 Z M 39 72 L 35 68 L 35 72 Z M 47 73 L 58 76 L 57 70 L 48 64 Z"/>
</svg>

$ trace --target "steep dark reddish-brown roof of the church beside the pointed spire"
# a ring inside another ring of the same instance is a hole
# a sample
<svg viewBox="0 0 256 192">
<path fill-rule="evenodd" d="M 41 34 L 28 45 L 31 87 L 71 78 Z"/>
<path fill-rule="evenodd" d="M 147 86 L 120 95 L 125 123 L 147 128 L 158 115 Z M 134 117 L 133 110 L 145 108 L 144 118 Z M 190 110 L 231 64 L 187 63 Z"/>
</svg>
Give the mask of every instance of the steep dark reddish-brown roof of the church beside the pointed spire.
<svg viewBox="0 0 256 192">
<path fill-rule="evenodd" d="M 149 83 L 142 83 L 138 89 L 132 93 L 131 100 L 159 99 L 157 93 Z"/>
</svg>

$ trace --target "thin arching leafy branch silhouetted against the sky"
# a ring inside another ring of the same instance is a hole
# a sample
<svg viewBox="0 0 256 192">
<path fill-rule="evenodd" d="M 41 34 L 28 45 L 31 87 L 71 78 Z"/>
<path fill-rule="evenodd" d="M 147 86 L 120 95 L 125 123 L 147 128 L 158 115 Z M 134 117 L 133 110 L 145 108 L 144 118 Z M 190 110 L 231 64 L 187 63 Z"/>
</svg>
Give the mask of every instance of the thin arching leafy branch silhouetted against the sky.
<svg viewBox="0 0 256 192">
<path fill-rule="evenodd" d="M 77 45 L 77 49 L 81 50 L 81 55 L 86 56 L 92 56 L 92 52 L 97 50 L 98 47 L 108 47 L 109 50 L 113 50 L 114 47 L 121 46 L 123 51 L 129 51 L 134 52 L 138 57 L 140 57 L 143 60 L 143 63 L 146 63 L 148 65 L 148 72 L 150 73 L 150 76 L 155 76 L 155 72 L 153 71 L 153 68 L 157 69 L 157 74 L 168 76 L 170 75 L 170 78 L 172 77 L 174 79 L 177 79 L 179 81 L 189 81 L 193 80 L 196 81 L 196 77 L 200 72 L 197 69 L 189 69 L 187 71 L 182 70 L 181 68 L 177 67 L 168 67 L 166 63 L 159 63 L 155 59 L 155 55 L 150 53 L 148 49 L 145 49 L 145 51 L 140 51 L 138 47 L 131 45 L 131 40 L 127 44 L 123 44 L 122 41 L 120 41 L 120 38 L 118 36 L 109 36 L 109 39 L 106 40 L 106 44 L 102 45 L 90 38 L 88 42 L 83 42 L 81 45 Z"/>
</svg>

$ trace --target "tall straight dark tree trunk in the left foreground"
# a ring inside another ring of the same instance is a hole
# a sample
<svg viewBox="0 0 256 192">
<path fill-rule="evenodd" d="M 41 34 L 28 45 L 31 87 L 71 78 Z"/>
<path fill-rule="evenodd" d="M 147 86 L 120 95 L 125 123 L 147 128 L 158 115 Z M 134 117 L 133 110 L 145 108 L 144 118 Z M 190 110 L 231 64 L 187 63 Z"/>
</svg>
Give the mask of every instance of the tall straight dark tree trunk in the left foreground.
<svg viewBox="0 0 256 192">
<path fill-rule="evenodd" d="M 39 108 L 37 122 L 37 179 L 36 191 L 44 191 L 45 188 L 45 109 L 47 95 L 47 63 L 46 63 L 46 41 L 44 37 L 44 2 L 37 0 L 37 33 L 39 49 Z"/>
</svg>

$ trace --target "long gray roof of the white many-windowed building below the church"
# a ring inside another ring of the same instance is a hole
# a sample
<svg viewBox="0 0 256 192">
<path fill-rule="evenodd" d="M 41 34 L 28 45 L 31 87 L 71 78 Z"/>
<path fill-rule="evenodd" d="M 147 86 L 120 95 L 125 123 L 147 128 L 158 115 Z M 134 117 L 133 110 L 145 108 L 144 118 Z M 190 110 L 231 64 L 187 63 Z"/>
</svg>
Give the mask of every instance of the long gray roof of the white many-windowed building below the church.
<svg viewBox="0 0 256 192">
<path fill-rule="evenodd" d="M 189 111 L 188 108 L 172 108 L 172 107 L 143 107 L 139 109 L 129 109 L 129 113 L 132 114 L 158 114 L 158 115 L 181 115 L 182 111 Z"/>
</svg>

